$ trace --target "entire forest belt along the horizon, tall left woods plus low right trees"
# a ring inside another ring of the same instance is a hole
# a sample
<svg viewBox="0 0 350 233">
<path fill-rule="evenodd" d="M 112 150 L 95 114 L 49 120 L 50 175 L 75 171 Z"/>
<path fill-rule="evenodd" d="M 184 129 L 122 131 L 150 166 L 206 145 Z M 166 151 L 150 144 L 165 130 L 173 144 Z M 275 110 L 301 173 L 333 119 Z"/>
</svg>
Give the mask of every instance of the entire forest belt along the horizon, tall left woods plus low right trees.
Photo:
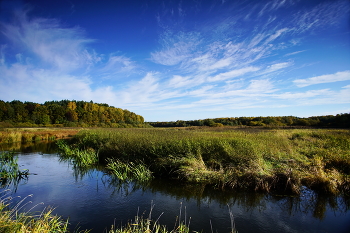
<svg viewBox="0 0 350 233">
<path fill-rule="evenodd" d="M 0 127 L 188 127 L 188 126 L 305 126 L 350 128 L 350 113 L 300 118 L 225 117 L 190 121 L 144 122 L 126 109 L 92 101 L 47 101 L 44 104 L 0 100 Z"/>
</svg>

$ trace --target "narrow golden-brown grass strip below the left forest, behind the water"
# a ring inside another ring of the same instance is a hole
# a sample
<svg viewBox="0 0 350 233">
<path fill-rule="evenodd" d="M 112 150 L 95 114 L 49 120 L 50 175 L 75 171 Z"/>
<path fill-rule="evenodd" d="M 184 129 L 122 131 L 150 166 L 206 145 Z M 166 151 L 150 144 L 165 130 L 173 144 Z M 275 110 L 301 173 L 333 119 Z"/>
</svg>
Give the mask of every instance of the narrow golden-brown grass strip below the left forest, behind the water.
<svg viewBox="0 0 350 233">
<path fill-rule="evenodd" d="M 62 139 L 75 135 L 79 130 L 80 128 L 2 128 L 0 144 Z"/>
</svg>

